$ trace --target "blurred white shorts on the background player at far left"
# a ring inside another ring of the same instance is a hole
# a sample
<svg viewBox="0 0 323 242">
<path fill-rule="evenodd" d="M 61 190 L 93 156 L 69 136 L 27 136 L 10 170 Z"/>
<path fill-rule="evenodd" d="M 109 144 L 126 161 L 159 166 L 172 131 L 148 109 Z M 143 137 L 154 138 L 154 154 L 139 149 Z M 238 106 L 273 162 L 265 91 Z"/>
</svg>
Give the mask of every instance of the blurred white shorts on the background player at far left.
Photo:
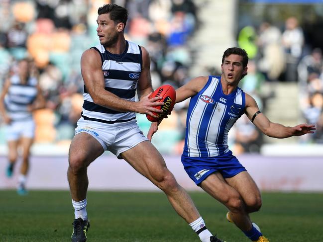
<svg viewBox="0 0 323 242">
<path fill-rule="evenodd" d="M 11 121 L 5 126 L 6 140 L 15 141 L 20 137 L 34 138 L 35 136 L 35 122 L 32 119 Z"/>
</svg>

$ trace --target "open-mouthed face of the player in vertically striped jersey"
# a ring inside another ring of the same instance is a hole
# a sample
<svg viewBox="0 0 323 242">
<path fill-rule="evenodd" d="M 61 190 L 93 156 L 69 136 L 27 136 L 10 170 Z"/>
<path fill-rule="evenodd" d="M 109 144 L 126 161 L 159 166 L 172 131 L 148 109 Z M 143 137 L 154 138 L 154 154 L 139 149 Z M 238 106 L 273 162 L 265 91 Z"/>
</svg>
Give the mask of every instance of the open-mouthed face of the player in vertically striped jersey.
<svg viewBox="0 0 323 242">
<path fill-rule="evenodd" d="M 221 70 L 224 81 L 228 84 L 237 84 L 242 75 L 247 73 L 247 67 L 242 65 L 242 56 L 234 54 L 224 58 Z"/>
</svg>

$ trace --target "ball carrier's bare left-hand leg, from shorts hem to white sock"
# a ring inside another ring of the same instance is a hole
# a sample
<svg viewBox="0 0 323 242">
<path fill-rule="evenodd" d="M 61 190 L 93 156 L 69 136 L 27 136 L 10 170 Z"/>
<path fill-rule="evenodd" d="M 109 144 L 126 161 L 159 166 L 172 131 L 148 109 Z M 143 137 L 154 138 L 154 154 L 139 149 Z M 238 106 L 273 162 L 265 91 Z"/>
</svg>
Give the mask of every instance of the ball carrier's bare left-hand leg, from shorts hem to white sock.
<svg viewBox="0 0 323 242">
<path fill-rule="evenodd" d="M 69 150 L 67 177 L 74 201 L 82 201 L 86 198 L 89 185 L 87 167 L 103 152 L 102 145 L 85 132 L 79 133 L 73 138 Z"/>
</svg>

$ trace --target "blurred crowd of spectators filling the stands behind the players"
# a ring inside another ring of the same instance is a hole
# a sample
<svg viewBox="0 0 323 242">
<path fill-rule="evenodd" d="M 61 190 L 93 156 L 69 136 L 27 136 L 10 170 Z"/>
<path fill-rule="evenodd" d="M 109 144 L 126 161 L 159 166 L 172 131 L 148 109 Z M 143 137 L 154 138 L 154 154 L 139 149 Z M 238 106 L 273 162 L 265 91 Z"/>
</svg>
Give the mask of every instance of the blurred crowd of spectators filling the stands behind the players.
<svg viewBox="0 0 323 242">
<path fill-rule="evenodd" d="M 194 0 L 1 0 L 0 88 L 16 60 L 28 57 L 34 61 L 47 100 L 46 108 L 34 113 L 36 143 L 68 143 L 74 136 L 83 104 L 80 58 L 84 50 L 98 44 L 97 10 L 105 3 L 128 9 L 125 36 L 149 51 L 154 88 L 165 83 L 176 88 L 190 79 L 194 50 L 188 41 L 199 26 Z M 263 83 L 298 81 L 304 118 L 318 126 L 311 140 L 323 143 L 322 50 L 304 51 L 297 19 L 287 19 L 284 31 L 268 22 L 258 30 L 246 26 L 237 42 L 250 57 L 242 89 L 265 110 L 272 93 L 264 90 Z M 162 152 L 182 152 L 186 107 L 187 103 L 177 104 L 162 122 L 160 134 L 154 137 Z M 137 119 L 147 132 L 150 122 L 140 114 Z M 231 133 L 237 150 L 259 151 L 262 136 L 247 118 L 241 118 Z M 0 143 L 4 143 L 2 134 Z"/>
</svg>

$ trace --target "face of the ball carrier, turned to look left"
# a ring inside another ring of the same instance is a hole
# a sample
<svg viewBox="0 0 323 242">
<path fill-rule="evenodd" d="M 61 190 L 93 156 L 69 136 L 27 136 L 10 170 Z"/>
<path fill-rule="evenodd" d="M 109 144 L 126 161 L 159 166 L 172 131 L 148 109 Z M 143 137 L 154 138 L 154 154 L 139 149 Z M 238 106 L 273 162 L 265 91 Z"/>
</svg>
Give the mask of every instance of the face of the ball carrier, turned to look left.
<svg viewBox="0 0 323 242">
<path fill-rule="evenodd" d="M 123 23 L 114 23 L 114 21 L 110 19 L 109 13 L 99 15 L 97 23 L 100 43 L 105 47 L 113 46 L 118 39 L 120 24 L 123 26 Z"/>
</svg>

